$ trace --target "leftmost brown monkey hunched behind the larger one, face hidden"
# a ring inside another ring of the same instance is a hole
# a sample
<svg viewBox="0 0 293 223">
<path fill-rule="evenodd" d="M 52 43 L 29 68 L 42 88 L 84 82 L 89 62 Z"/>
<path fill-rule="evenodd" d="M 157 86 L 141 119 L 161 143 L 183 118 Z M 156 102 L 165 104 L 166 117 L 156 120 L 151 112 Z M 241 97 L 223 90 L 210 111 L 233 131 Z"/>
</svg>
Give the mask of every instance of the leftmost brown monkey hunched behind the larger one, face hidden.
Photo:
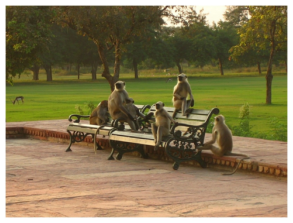
<svg viewBox="0 0 293 223">
<path fill-rule="evenodd" d="M 101 101 L 90 115 L 91 125 L 105 125 L 108 122 L 108 101 Z"/>
</svg>

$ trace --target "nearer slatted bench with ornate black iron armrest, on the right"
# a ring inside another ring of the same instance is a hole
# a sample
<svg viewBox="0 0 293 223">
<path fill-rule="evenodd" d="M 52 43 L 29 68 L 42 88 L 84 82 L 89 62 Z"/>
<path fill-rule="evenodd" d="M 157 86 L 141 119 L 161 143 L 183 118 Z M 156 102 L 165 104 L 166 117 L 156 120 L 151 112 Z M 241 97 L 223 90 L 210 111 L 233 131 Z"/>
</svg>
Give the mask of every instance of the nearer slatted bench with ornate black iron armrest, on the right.
<svg viewBox="0 0 293 223">
<path fill-rule="evenodd" d="M 172 116 L 174 108 L 164 107 Z M 149 112 L 155 112 L 155 104 L 149 109 Z M 205 133 L 209 120 L 213 114 L 219 114 L 218 108 L 211 110 L 193 109 L 187 116 L 182 116 L 177 112 L 174 119 L 177 124 L 171 123 L 170 135 L 162 137 L 161 147 L 165 149 L 166 155 L 175 162 L 173 169 L 177 170 L 183 161 L 196 160 L 202 168 L 207 166 L 201 158 L 201 151 L 196 149 L 202 146 L 205 139 Z M 110 132 L 109 143 L 112 152 L 108 160 L 112 160 L 114 151 L 117 151 L 116 159 L 120 160 L 124 153 L 139 152 L 143 158 L 148 158 L 144 151 L 144 145 L 155 146 L 154 137 L 151 133 L 151 123 L 155 122 L 154 116 L 149 119 L 149 123 L 144 124 L 142 132 L 133 132 L 127 129 L 114 130 Z M 184 134 L 185 133 L 185 134 Z"/>
</svg>

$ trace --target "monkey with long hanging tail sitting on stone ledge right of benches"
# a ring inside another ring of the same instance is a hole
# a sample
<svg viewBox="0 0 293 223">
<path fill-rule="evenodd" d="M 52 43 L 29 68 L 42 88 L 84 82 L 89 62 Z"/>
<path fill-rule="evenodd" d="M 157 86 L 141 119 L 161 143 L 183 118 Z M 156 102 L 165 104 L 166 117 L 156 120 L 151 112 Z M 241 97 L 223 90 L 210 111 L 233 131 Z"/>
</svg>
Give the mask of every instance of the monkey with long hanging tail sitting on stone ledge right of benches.
<svg viewBox="0 0 293 223">
<path fill-rule="evenodd" d="M 213 146 L 217 141 L 218 147 Z M 244 156 L 239 161 L 236 169 L 232 173 L 222 173 L 222 175 L 232 175 L 234 174 L 241 161 L 244 159 L 250 158 L 249 156 L 241 153 L 232 153 L 233 141 L 232 141 L 232 132 L 225 123 L 225 117 L 218 115 L 215 117 L 214 127 L 212 131 L 212 140 L 204 143 L 203 146 L 199 146 L 198 150 L 211 150 L 217 156 Z"/>
</svg>

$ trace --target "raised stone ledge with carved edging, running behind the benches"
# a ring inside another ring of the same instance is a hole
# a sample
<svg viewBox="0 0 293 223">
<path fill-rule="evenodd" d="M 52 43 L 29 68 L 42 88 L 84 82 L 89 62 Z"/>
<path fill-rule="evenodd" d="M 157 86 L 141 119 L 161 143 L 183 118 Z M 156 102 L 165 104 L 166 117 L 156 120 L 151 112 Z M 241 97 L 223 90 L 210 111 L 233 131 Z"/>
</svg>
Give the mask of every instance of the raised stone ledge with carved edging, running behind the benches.
<svg viewBox="0 0 293 223">
<path fill-rule="evenodd" d="M 81 120 L 81 123 L 88 123 L 87 120 Z M 31 122 L 7 122 L 7 137 L 23 137 L 30 136 L 36 139 L 69 143 L 69 134 L 66 128 L 69 124 L 65 120 L 48 120 L 48 121 L 31 121 Z M 205 141 L 211 139 L 212 134 L 206 134 Z M 108 137 L 97 137 L 97 141 L 105 149 L 109 150 Z M 93 147 L 92 139 L 87 138 L 86 142 L 79 145 Z M 64 145 L 64 150 L 68 145 Z M 150 158 L 170 161 L 173 160 L 165 155 L 165 151 L 159 148 L 154 151 L 152 146 L 147 146 Z M 287 142 L 270 141 L 257 138 L 245 138 L 233 136 L 233 152 L 243 153 L 250 156 L 250 159 L 243 160 L 238 171 L 250 171 L 257 173 L 265 173 L 277 177 L 287 178 Z M 216 168 L 222 170 L 234 170 L 241 157 L 236 156 L 215 156 L 210 151 L 202 151 L 202 158 L 208 163 L 208 168 Z M 184 163 L 180 164 L 183 165 Z M 199 166 L 196 161 L 188 162 L 190 165 Z M 179 168 L 180 168 L 179 167 Z"/>
</svg>

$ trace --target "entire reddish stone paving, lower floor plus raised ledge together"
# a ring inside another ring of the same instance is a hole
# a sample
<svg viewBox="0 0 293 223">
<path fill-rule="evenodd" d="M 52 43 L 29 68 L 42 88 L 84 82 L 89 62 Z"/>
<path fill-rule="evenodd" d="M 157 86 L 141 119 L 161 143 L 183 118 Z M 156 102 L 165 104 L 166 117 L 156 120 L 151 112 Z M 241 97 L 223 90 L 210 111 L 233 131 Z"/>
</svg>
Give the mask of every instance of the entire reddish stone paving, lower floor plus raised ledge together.
<svg viewBox="0 0 293 223">
<path fill-rule="evenodd" d="M 162 154 L 108 161 L 107 138 L 97 154 L 90 141 L 65 152 L 68 123 L 6 123 L 6 217 L 288 217 L 284 142 L 234 137 L 251 159 L 224 176 L 235 158 L 208 152 L 207 168 L 178 170 Z"/>
</svg>

